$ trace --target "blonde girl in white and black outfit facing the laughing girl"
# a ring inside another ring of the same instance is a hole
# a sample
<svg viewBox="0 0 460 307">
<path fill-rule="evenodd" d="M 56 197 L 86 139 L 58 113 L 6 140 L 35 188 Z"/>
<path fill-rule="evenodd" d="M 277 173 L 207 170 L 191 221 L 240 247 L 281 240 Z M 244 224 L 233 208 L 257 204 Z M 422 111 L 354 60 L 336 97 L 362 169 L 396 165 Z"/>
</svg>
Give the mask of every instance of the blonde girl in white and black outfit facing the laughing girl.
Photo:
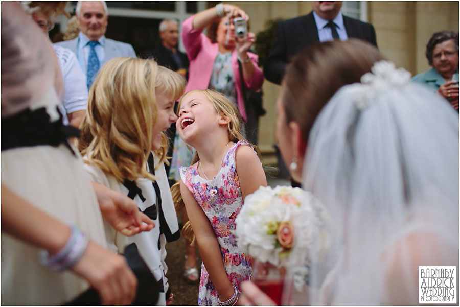
<svg viewBox="0 0 460 307">
<path fill-rule="evenodd" d="M 122 252 L 136 243 L 160 285 L 166 304 L 166 242 L 179 229 L 166 179 L 164 131 L 176 119 L 174 103 L 185 80 L 152 60 L 120 57 L 107 62 L 89 90 L 78 148 L 93 180 L 133 199 L 155 222 L 149 232 L 125 237 L 105 224 L 109 248 Z"/>
</svg>

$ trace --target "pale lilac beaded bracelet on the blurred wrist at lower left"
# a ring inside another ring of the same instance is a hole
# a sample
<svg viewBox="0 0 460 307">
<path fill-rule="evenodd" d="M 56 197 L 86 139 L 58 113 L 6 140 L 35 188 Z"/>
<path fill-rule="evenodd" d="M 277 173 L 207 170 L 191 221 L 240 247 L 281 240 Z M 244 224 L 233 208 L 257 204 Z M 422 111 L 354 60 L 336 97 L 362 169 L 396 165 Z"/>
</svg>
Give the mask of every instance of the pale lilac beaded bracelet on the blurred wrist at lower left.
<svg viewBox="0 0 460 307">
<path fill-rule="evenodd" d="M 88 238 L 75 225 L 71 226 L 69 235 L 64 247 L 54 256 L 42 250 L 39 254 L 40 263 L 47 267 L 52 267 L 55 271 L 64 271 L 71 268 L 81 258 L 88 246 Z"/>
</svg>

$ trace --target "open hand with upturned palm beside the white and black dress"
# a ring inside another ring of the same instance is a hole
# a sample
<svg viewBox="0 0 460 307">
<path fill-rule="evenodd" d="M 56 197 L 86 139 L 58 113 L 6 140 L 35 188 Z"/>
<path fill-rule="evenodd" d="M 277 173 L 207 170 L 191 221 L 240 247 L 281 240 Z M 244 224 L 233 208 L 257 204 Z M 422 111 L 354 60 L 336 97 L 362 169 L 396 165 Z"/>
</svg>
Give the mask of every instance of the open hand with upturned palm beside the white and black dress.
<svg viewBox="0 0 460 307">
<path fill-rule="evenodd" d="M 110 188 L 91 182 L 98 198 L 101 214 L 117 231 L 131 236 L 142 231 L 150 231 L 155 224 L 139 211 L 137 204 L 129 197 Z"/>
</svg>

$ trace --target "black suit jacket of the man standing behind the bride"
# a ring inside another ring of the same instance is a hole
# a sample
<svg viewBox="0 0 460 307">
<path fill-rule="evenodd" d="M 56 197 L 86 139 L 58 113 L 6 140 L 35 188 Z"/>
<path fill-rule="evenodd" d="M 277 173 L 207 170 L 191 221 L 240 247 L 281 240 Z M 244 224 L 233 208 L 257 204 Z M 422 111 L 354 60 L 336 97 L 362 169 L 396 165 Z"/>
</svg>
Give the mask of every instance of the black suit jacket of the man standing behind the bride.
<svg viewBox="0 0 460 307">
<path fill-rule="evenodd" d="M 377 46 L 374 26 L 371 23 L 347 16 L 343 16 L 343 23 L 348 37 L 363 39 Z M 280 84 L 291 58 L 318 41 L 318 30 L 313 12 L 278 22 L 277 33 L 264 64 L 265 78 Z"/>
</svg>

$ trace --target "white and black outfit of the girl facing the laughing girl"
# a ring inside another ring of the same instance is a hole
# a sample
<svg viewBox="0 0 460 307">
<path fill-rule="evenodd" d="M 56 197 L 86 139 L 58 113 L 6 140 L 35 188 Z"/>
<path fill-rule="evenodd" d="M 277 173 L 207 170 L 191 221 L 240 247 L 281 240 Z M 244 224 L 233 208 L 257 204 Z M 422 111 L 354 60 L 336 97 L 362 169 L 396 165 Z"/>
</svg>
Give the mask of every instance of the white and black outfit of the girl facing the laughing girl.
<svg viewBox="0 0 460 307">
<path fill-rule="evenodd" d="M 104 222 L 104 226 L 109 249 L 122 253 L 128 244 L 136 244 L 160 289 L 158 301 L 152 304 L 165 305 L 165 295 L 169 288 L 165 277 L 167 272 L 165 245 L 179 238 L 179 227 L 164 164 L 161 163 L 155 171 L 154 166 L 157 163 L 155 160 L 158 161 L 158 157 L 151 153 L 147 168 L 158 178 L 153 182 L 147 178 L 138 178 L 137 183 L 128 179 L 120 182 L 114 176 L 105 174 L 95 165 L 86 164 L 85 169 L 94 181 L 133 199 L 139 209 L 154 221 L 155 227 L 152 230 L 132 237 L 126 237 L 117 232 L 107 222 Z"/>
</svg>

